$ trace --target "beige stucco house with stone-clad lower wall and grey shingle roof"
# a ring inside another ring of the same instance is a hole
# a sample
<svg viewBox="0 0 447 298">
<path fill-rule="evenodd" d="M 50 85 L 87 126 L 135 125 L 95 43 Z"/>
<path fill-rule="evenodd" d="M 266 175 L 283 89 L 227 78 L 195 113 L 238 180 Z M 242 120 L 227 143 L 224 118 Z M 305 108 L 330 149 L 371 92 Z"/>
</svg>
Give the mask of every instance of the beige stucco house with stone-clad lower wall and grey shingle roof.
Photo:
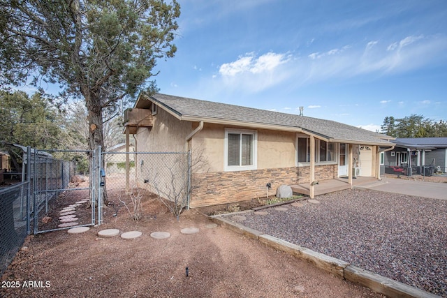
<svg viewBox="0 0 447 298">
<path fill-rule="evenodd" d="M 317 181 L 379 179 L 379 157 L 393 137 L 335 121 L 237 105 L 140 94 L 126 118 L 126 140 L 135 151 L 201 154 L 205 170 L 193 172 L 190 207 L 263 198 L 282 185 Z M 145 177 L 140 177 L 140 180 Z"/>
</svg>

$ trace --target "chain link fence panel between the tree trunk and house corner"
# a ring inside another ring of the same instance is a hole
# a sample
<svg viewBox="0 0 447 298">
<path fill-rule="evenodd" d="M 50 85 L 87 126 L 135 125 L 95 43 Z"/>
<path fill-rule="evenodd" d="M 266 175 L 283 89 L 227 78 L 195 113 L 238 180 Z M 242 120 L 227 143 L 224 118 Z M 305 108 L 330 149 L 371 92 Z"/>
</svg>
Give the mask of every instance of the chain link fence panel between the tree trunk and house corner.
<svg viewBox="0 0 447 298">
<path fill-rule="evenodd" d="M 158 198 L 176 216 L 189 207 L 188 152 L 103 152 L 103 158 L 108 200 L 134 218 L 140 216 L 138 206 L 145 197 Z"/>
</svg>

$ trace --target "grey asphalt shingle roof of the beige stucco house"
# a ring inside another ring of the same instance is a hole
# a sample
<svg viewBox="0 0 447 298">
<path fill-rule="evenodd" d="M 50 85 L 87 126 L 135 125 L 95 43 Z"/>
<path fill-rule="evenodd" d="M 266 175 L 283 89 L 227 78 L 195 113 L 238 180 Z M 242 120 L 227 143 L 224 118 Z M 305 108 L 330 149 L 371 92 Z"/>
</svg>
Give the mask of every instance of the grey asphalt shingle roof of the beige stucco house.
<svg viewBox="0 0 447 298">
<path fill-rule="evenodd" d="M 241 124 L 242 122 L 249 122 L 251 124 L 283 126 L 284 128 L 302 128 L 303 131 L 321 135 L 328 139 L 357 142 L 358 144 L 374 143 L 383 146 L 390 145 L 390 142 L 383 140 L 386 138 L 385 135 L 331 120 L 166 94 L 155 94 L 149 99 L 160 103 L 166 109 L 174 112 L 180 119 L 182 117 L 194 117 L 197 121 L 205 122 L 216 119 L 241 122 Z"/>
</svg>

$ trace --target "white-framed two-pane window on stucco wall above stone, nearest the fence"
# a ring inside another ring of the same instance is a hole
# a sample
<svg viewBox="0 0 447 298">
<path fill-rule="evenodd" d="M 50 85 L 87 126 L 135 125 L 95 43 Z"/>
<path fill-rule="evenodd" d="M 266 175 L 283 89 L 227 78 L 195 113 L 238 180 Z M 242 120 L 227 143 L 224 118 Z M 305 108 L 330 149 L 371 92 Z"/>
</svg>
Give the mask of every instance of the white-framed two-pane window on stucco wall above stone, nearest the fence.
<svg viewBox="0 0 447 298">
<path fill-rule="evenodd" d="M 225 131 L 225 170 L 256 170 L 256 131 Z"/>
</svg>

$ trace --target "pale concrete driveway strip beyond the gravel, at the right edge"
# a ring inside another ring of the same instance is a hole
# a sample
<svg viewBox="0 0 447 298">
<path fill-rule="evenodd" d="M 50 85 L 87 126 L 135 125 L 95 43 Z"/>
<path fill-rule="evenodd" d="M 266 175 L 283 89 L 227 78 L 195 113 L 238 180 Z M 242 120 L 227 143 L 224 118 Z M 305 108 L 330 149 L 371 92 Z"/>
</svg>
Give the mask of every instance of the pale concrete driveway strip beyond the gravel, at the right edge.
<svg viewBox="0 0 447 298">
<path fill-rule="evenodd" d="M 404 180 L 383 177 L 381 181 L 360 184 L 356 188 L 367 188 L 387 193 L 402 193 L 423 198 L 447 200 L 447 183 Z"/>
</svg>

